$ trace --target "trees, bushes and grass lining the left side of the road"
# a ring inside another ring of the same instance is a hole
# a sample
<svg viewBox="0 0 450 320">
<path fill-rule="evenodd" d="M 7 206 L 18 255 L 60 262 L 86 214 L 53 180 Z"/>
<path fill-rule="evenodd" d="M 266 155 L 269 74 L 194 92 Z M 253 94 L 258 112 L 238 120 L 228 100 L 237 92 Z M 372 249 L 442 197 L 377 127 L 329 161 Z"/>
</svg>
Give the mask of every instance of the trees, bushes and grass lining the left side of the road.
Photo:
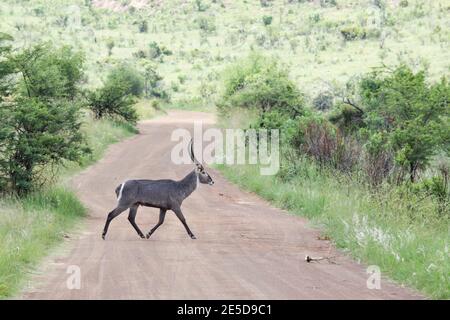
<svg viewBox="0 0 450 320">
<path fill-rule="evenodd" d="M 87 89 L 82 52 L 13 44 L 0 34 L 0 297 L 15 293 L 29 268 L 84 215 L 62 178 L 136 132 L 133 97 L 144 89 L 127 67 L 112 70 L 104 87 Z M 106 111 L 96 112 L 98 105 Z"/>
</svg>

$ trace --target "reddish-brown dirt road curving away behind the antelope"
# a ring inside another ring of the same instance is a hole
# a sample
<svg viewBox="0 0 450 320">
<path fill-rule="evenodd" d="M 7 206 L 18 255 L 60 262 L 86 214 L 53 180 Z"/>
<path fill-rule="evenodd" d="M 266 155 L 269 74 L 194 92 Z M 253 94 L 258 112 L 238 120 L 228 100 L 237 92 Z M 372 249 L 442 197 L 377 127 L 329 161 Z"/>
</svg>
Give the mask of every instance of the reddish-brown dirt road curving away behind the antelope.
<svg viewBox="0 0 450 320">
<path fill-rule="evenodd" d="M 141 134 L 112 146 L 73 185 L 89 208 L 82 231 L 71 235 L 67 252 L 45 264 L 25 299 L 414 299 L 410 290 L 381 282 L 369 290 L 366 268 L 319 240 L 299 217 L 240 191 L 212 169 L 214 186 L 201 185 L 183 204 L 197 240 L 172 212 L 149 240 L 138 237 L 124 212 L 113 220 L 106 241 L 101 231 L 114 208 L 115 187 L 127 178 L 181 179 L 193 166 L 174 165 L 170 134 L 192 129 L 211 115 L 170 112 L 140 124 Z M 148 232 L 158 210 L 140 208 L 137 224 Z M 334 256 L 306 263 L 305 255 Z M 69 266 L 78 266 L 81 288 L 68 289 Z"/>
</svg>

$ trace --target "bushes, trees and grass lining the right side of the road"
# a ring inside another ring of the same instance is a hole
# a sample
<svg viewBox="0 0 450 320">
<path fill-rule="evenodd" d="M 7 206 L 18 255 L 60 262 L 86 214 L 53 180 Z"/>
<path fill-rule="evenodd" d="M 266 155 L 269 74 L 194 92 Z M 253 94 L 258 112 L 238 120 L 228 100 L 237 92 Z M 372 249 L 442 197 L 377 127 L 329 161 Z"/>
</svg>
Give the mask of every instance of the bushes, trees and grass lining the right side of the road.
<svg viewBox="0 0 450 320">
<path fill-rule="evenodd" d="M 275 177 L 252 166 L 222 169 L 312 218 L 358 258 L 448 297 L 450 85 L 401 64 L 346 88 L 309 104 L 276 61 L 255 54 L 239 61 L 225 72 L 222 121 L 280 129 L 282 167 Z"/>
</svg>

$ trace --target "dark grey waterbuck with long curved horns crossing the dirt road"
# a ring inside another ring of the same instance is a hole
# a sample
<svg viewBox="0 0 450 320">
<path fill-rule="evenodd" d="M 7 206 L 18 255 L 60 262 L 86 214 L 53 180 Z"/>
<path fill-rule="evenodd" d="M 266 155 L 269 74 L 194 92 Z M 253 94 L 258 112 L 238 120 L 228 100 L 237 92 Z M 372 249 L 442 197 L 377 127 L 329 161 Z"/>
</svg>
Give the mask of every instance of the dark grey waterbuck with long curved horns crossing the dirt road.
<svg viewBox="0 0 450 320">
<path fill-rule="evenodd" d="M 130 209 L 128 221 L 141 238 L 145 238 L 142 231 L 137 226 L 135 219 L 139 206 L 159 208 L 159 221 L 147 233 L 147 239 L 164 223 L 167 210 L 172 210 L 186 228 L 188 235 L 196 239 L 189 229 L 186 219 L 181 212 L 181 204 L 184 199 L 197 188 L 198 183 L 213 185 L 214 181 L 205 171 L 203 165 L 194 156 L 194 144 L 189 143 L 189 155 L 195 168 L 180 181 L 174 180 L 127 180 L 116 188 L 117 207 L 108 214 L 102 238 L 105 239 L 111 220 L 127 209 Z"/>
</svg>

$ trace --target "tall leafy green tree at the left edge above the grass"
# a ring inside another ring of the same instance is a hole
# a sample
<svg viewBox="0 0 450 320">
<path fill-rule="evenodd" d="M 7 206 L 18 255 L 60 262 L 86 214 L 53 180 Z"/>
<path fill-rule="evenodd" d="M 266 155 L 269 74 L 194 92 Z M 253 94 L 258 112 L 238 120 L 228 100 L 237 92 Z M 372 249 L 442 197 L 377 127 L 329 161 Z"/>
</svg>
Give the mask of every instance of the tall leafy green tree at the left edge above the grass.
<svg viewBox="0 0 450 320">
<path fill-rule="evenodd" d="M 8 52 L 2 59 L 7 66 L 2 76 L 7 70 L 12 81 L 0 99 L 1 190 L 25 194 L 45 182 L 49 167 L 80 160 L 89 151 L 83 146 L 79 107 L 72 101 L 82 63 L 70 48 L 48 44 Z"/>
</svg>

